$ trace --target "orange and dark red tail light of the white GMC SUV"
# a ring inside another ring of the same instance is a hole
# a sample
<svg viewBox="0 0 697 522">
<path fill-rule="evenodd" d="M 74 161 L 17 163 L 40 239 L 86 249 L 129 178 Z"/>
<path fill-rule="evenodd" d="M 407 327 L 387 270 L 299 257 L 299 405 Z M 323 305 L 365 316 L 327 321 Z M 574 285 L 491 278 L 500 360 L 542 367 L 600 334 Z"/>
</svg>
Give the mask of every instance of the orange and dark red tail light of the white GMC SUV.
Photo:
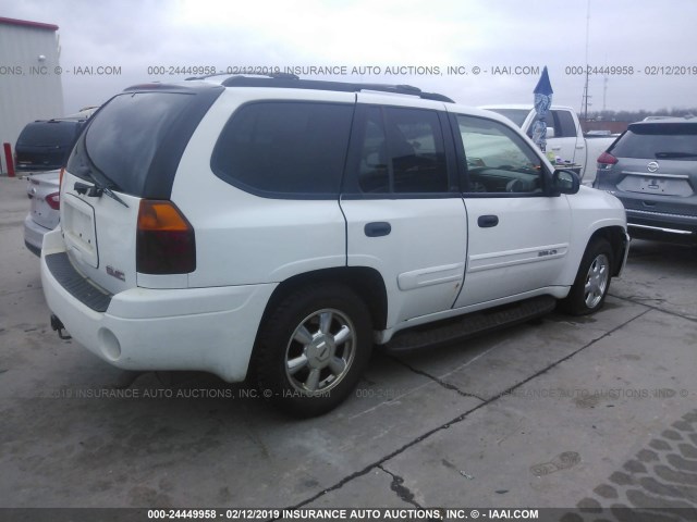
<svg viewBox="0 0 697 522">
<path fill-rule="evenodd" d="M 171 201 L 140 201 L 136 270 L 142 274 L 186 274 L 196 270 L 194 227 Z"/>
</svg>

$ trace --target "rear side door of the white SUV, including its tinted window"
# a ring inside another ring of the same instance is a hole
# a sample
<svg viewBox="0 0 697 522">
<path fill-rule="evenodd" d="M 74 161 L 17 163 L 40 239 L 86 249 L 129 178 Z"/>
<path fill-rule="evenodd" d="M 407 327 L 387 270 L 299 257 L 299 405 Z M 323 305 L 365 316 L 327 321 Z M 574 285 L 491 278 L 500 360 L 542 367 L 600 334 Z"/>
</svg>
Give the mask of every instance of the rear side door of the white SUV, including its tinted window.
<svg viewBox="0 0 697 522">
<path fill-rule="evenodd" d="M 442 104 L 429 110 L 372 100 L 358 95 L 341 209 L 347 264 L 382 275 L 391 327 L 452 308 L 467 227 Z"/>
</svg>

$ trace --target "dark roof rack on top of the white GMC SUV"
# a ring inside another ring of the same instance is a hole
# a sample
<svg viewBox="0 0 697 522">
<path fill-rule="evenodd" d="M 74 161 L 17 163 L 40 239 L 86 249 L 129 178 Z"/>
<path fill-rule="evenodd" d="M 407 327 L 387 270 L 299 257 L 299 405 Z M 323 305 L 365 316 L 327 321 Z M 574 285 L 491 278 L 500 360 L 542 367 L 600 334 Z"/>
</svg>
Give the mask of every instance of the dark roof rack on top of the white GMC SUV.
<svg viewBox="0 0 697 522">
<path fill-rule="evenodd" d="M 224 74 L 224 73 L 223 73 Z M 192 77 L 186 79 L 206 79 L 220 74 Z M 221 83 L 224 87 L 277 87 L 290 89 L 314 89 L 314 90 L 337 90 L 342 92 L 359 92 L 362 90 L 374 90 L 378 92 L 392 92 L 396 95 L 418 96 L 425 100 L 445 101 L 454 103 L 447 96 L 437 92 L 424 92 L 418 87 L 411 85 L 387 85 L 387 84 L 358 84 L 345 82 L 327 82 L 319 79 L 301 79 L 290 73 L 272 73 L 259 75 L 235 75 Z"/>
</svg>

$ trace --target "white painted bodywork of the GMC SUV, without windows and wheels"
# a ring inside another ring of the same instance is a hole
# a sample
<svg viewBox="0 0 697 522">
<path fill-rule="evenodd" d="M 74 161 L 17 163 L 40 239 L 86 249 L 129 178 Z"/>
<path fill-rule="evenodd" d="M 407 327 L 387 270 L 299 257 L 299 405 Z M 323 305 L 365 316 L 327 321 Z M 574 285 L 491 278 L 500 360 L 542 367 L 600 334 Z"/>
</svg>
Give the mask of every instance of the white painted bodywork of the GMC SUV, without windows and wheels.
<svg viewBox="0 0 697 522">
<path fill-rule="evenodd" d="M 442 117 L 464 114 L 498 122 L 533 147 L 505 117 L 442 101 L 225 88 L 193 132 L 171 189 L 171 201 L 195 229 L 196 269 L 169 275 L 137 271 L 140 199 L 120 191 L 121 201 L 106 195 L 88 198 L 76 190 L 84 179 L 70 172 L 69 163 L 61 226 L 44 239 L 44 290 L 70 334 L 111 364 L 201 370 L 239 382 L 247 375 L 274 291 L 289 282 L 311 285 L 314 277 L 352 269 L 379 276 L 386 310 L 383 321 L 374 323 L 374 339 L 384 344 L 411 326 L 535 296 L 562 299 L 594 235 L 613 228 L 626 237 L 620 201 L 587 187 L 574 195 L 502 198 L 295 200 L 250 194 L 217 176 L 208 159 L 231 114 L 259 98 L 387 103 L 438 111 Z M 542 169 L 553 171 L 535 153 Z M 497 214 L 499 225 L 477 226 L 484 214 Z M 391 232 L 368 237 L 368 227 L 381 222 L 391 224 Z M 49 261 L 63 253 L 74 272 L 97 289 L 93 297 L 105 299 L 103 310 L 90 308 L 58 281 Z M 326 283 L 320 278 L 317 285 Z"/>
</svg>

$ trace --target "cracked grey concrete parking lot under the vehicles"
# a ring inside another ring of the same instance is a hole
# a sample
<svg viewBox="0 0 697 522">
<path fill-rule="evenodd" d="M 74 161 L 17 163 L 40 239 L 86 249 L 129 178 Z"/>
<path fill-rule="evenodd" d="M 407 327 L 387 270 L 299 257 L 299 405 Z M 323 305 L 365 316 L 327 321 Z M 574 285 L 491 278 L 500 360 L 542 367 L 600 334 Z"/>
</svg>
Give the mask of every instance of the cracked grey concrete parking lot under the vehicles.
<svg viewBox="0 0 697 522">
<path fill-rule="evenodd" d="M 634 241 L 590 318 L 376 351 L 347 402 L 296 421 L 244 385 L 122 372 L 59 339 L 27 209 L 25 182 L 0 178 L 0 507 L 694 515 L 667 508 L 697 508 L 695 248 Z"/>
</svg>

